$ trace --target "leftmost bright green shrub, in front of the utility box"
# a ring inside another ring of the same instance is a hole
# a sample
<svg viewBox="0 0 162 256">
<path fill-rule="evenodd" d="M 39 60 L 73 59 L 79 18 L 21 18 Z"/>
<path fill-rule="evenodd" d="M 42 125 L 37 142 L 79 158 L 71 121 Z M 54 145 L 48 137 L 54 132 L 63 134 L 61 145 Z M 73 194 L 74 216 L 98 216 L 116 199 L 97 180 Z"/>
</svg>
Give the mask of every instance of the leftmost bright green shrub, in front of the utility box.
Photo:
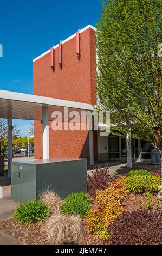
<svg viewBox="0 0 162 256">
<path fill-rule="evenodd" d="M 32 226 L 35 222 L 43 223 L 49 215 L 48 206 L 40 200 L 32 200 L 31 202 L 28 200 L 26 204 L 18 205 L 17 210 L 14 211 L 14 218 L 17 222 L 29 226 Z"/>
</svg>

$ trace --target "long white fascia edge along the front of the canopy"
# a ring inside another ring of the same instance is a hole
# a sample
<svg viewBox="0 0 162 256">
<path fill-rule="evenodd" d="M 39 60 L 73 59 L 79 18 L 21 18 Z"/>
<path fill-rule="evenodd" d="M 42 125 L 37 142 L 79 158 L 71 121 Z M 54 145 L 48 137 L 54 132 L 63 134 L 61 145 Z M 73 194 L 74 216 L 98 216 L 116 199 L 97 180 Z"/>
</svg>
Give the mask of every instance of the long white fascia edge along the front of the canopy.
<svg viewBox="0 0 162 256">
<path fill-rule="evenodd" d="M 15 93 L 7 90 L 0 90 L 0 100 L 1 99 L 94 111 L 94 107 L 87 103 L 60 100 L 60 99 L 55 99 L 51 97 L 37 96 L 33 94 Z"/>
</svg>

